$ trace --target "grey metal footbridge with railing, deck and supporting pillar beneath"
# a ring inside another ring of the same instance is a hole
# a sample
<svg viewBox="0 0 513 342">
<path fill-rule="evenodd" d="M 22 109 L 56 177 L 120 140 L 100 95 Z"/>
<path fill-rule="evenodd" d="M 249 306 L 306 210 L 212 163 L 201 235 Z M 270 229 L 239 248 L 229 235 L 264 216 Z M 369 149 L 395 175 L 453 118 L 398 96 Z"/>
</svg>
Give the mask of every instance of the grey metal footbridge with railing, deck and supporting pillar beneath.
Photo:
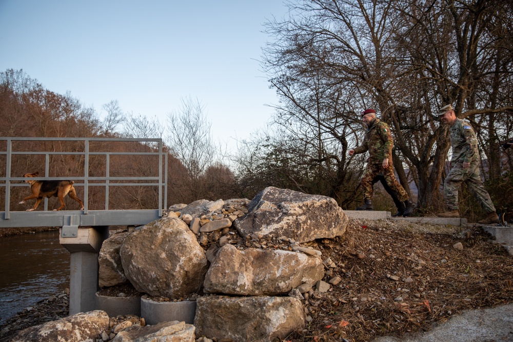
<svg viewBox="0 0 513 342">
<path fill-rule="evenodd" d="M 167 153 L 162 139 L 0 137 L 0 229 L 58 227 L 60 243 L 71 253 L 70 314 L 96 308 L 98 253 L 109 226 L 140 226 L 167 208 Z M 2 167 L 2 165 L 4 167 Z M 35 199 L 23 177 L 73 180 L 80 205 L 65 197 Z M 44 176 L 43 176 L 44 175 Z M 66 209 L 70 210 L 66 210 Z"/>
</svg>

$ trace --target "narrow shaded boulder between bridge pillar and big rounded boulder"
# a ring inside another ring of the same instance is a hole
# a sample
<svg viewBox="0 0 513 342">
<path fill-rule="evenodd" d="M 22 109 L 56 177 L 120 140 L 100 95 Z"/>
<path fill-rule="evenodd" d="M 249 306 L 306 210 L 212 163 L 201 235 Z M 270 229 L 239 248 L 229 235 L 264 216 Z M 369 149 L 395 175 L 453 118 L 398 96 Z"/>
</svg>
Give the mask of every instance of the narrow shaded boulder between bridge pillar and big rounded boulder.
<svg viewBox="0 0 513 342">
<path fill-rule="evenodd" d="M 128 232 L 114 234 L 106 239 L 100 254 L 98 254 L 98 285 L 108 287 L 127 282 L 123 265 L 121 264 L 120 248 Z"/>
</svg>

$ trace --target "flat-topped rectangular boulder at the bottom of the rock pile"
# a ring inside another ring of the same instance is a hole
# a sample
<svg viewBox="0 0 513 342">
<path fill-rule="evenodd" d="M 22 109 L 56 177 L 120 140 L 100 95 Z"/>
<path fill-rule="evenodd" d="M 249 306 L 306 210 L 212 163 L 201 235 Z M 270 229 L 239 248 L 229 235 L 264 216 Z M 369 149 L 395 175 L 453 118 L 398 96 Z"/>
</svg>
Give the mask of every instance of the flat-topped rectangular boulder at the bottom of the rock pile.
<svg viewBox="0 0 513 342">
<path fill-rule="evenodd" d="M 305 325 L 303 305 L 292 297 L 221 297 L 197 299 L 196 335 L 234 342 L 283 339 Z"/>
</svg>

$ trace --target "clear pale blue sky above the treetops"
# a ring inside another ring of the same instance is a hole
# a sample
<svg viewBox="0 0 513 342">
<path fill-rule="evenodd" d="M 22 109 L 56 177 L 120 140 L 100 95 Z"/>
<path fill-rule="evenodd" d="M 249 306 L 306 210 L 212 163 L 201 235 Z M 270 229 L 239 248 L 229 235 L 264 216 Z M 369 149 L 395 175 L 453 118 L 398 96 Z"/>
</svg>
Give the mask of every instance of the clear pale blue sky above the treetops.
<svg viewBox="0 0 513 342">
<path fill-rule="evenodd" d="M 258 60 L 281 0 L 0 0 L 0 70 L 23 69 L 47 89 L 98 113 L 165 120 L 198 99 L 215 141 L 233 144 L 268 122 L 274 90 Z"/>
</svg>

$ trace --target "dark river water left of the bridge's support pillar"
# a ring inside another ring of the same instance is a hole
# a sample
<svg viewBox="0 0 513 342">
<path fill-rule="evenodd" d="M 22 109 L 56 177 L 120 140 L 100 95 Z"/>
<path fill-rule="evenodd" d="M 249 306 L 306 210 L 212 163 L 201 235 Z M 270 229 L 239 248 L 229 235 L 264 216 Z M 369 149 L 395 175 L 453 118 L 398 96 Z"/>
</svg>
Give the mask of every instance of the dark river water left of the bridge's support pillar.
<svg viewBox="0 0 513 342">
<path fill-rule="evenodd" d="M 0 324 L 69 287 L 69 260 L 58 231 L 0 237 Z"/>
</svg>

